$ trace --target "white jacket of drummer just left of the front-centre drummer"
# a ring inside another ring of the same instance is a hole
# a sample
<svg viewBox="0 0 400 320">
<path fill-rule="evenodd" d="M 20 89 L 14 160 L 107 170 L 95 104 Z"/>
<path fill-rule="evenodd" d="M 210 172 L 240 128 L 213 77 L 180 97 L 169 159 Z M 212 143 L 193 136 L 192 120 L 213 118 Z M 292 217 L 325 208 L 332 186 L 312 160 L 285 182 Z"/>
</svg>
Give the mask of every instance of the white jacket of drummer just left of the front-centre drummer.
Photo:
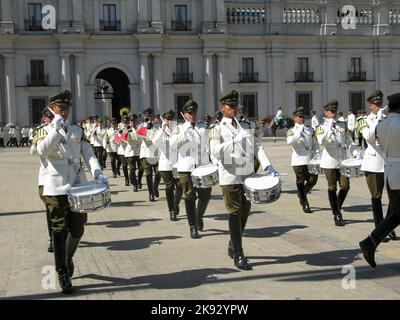
<svg viewBox="0 0 400 320">
<path fill-rule="evenodd" d="M 178 152 L 178 172 L 192 172 L 195 168 L 210 164 L 208 129 L 185 122 L 176 126 L 170 145 Z"/>
</svg>

